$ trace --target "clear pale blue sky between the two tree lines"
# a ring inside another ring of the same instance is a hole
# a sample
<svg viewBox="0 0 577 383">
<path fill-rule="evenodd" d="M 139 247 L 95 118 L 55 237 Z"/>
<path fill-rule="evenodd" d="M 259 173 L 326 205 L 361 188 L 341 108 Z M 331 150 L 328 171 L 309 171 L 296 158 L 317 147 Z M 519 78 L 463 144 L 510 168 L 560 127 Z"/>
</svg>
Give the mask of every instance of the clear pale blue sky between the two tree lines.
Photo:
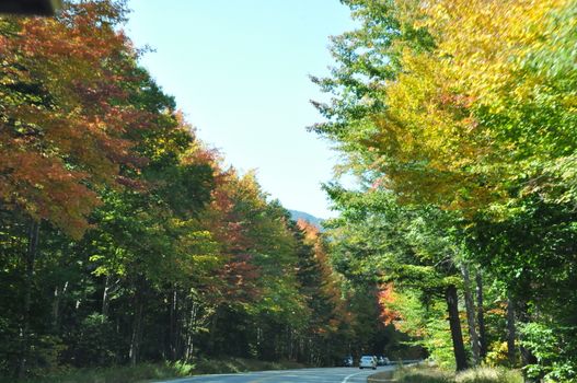
<svg viewBox="0 0 577 383">
<path fill-rule="evenodd" d="M 336 152 L 307 131 L 324 100 L 330 35 L 350 30 L 338 0 L 130 0 L 126 26 L 142 65 L 176 97 L 199 138 L 289 209 L 327 218 L 321 183 Z"/>
</svg>

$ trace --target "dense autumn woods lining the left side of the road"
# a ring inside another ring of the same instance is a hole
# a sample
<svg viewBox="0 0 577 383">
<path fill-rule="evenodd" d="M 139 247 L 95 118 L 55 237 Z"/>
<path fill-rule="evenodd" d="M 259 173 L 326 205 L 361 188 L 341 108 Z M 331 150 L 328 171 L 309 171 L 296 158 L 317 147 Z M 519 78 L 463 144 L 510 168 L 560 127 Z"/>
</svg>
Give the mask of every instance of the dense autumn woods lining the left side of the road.
<svg viewBox="0 0 577 383">
<path fill-rule="evenodd" d="M 378 347 L 374 289 L 345 289 L 318 229 L 197 139 L 125 18 L 0 19 L 0 375 Z"/>
</svg>

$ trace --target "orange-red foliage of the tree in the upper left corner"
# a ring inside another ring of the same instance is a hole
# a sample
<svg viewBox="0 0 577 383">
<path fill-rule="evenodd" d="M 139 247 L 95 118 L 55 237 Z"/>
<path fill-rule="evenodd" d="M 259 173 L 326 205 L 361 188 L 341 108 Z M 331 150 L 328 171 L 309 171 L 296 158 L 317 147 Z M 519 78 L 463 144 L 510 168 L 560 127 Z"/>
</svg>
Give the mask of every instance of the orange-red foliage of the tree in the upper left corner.
<svg viewBox="0 0 577 383">
<path fill-rule="evenodd" d="M 150 116 L 124 102 L 135 54 L 120 21 L 111 2 L 84 1 L 0 24 L 0 201 L 77 237 L 93 188 L 142 164 L 126 137 Z"/>
</svg>

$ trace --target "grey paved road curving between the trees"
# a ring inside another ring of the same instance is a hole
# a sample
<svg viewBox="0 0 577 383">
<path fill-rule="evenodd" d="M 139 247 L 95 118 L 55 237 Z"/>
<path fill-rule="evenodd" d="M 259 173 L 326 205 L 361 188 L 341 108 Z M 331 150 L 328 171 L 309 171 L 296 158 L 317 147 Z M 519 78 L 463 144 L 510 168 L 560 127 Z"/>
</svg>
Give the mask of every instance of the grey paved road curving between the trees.
<svg viewBox="0 0 577 383">
<path fill-rule="evenodd" d="M 162 383 L 367 383 L 367 376 L 376 372 L 393 369 L 394 365 L 379 367 L 377 371 L 359 370 L 358 368 L 350 367 L 259 371 L 183 378 Z"/>
</svg>

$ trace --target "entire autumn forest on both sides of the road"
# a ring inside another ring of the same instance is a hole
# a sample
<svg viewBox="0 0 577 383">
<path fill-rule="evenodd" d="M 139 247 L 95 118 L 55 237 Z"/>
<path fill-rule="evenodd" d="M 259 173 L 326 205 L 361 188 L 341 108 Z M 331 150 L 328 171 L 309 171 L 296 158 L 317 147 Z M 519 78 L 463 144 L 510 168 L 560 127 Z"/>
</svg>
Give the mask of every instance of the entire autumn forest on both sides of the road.
<svg viewBox="0 0 577 383">
<path fill-rule="evenodd" d="M 577 3 L 342 2 L 322 232 L 197 137 L 125 2 L 0 18 L 0 376 L 384 353 L 577 381 Z"/>
</svg>

